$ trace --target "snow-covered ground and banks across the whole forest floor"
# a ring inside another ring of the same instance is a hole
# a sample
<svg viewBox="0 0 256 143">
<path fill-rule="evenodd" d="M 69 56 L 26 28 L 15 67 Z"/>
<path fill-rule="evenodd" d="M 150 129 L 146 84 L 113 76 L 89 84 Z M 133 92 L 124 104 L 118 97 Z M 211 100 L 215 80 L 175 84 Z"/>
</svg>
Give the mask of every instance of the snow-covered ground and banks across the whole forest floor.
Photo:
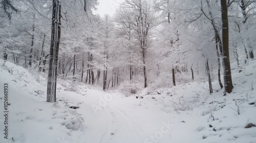
<svg viewBox="0 0 256 143">
<path fill-rule="evenodd" d="M 241 73 L 233 71 L 234 89 L 227 96 L 217 81 L 211 95 L 207 82 L 192 82 L 149 95 L 145 90 L 138 99 L 60 81 L 53 104 L 46 102 L 44 78 L 6 62 L 0 67 L 0 112 L 8 83 L 9 126 L 5 139 L 1 115 L 0 142 L 256 142 L 255 71 L 256 60 Z"/>
</svg>

